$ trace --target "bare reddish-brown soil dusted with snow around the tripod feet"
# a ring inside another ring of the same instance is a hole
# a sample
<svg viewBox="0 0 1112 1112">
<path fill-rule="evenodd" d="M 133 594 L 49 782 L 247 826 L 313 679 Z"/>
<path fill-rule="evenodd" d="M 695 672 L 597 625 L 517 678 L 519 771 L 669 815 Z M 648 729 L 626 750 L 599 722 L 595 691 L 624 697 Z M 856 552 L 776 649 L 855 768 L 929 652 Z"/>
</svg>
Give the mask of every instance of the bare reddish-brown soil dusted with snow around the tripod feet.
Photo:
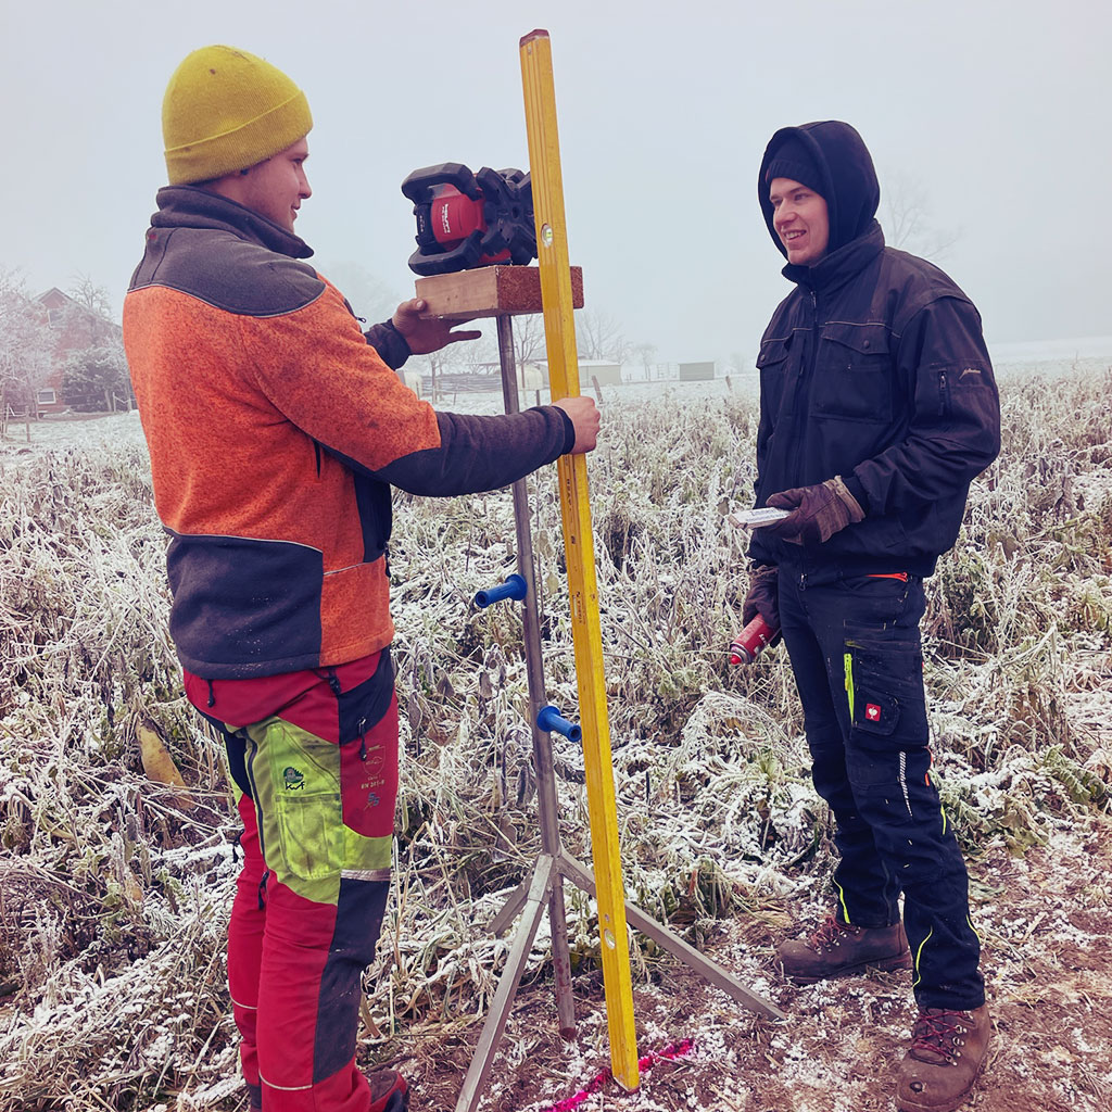
<svg viewBox="0 0 1112 1112">
<path fill-rule="evenodd" d="M 971 1112 L 1106 1112 L 1112 1100 L 1112 848 L 1108 826 L 1013 856 L 971 862 L 975 922 L 994 1035 Z M 801 907 L 815 915 L 821 900 Z M 793 921 L 781 911 L 716 923 L 705 951 L 785 1011 L 757 1019 L 671 957 L 635 986 L 644 1056 L 682 1039 L 693 1051 L 655 1062 L 636 1093 L 609 1082 L 583 1112 L 888 1112 L 914 1022 L 910 974 L 876 974 L 796 989 L 774 946 Z M 487 1112 L 547 1112 L 608 1065 L 600 974 L 575 984 L 578 1037 L 556 1034 L 552 983 L 523 986 L 492 1071 Z M 414 1109 L 450 1110 L 480 1024 L 415 1026 L 367 1046 L 414 1086 Z"/>
</svg>

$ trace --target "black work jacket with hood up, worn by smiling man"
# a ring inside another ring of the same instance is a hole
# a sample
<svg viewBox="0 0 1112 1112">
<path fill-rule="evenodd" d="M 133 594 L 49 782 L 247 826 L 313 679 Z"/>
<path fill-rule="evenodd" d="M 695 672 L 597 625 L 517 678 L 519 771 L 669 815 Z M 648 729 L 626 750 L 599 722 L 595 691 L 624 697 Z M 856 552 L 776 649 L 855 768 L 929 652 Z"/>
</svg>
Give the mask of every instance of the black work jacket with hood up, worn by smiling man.
<svg viewBox="0 0 1112 1112">
<path fill-rule="evenodd" d="M 841 475 L 865 519 L 823 545 L 756 529 L 759 564 L 930 575 L 957 537 L 969 486 L 1000 451 L 1000 398 L 970 299 L 937 267 L 884 246 L 876 173 L 836 120 L 777 131 L 757 197 L 773 241 L 766 168 L 787 138 L 822 175 L 827 252 L 784 267 L 796 284 L 761 340 L 756 505 Z"/>
</svg>

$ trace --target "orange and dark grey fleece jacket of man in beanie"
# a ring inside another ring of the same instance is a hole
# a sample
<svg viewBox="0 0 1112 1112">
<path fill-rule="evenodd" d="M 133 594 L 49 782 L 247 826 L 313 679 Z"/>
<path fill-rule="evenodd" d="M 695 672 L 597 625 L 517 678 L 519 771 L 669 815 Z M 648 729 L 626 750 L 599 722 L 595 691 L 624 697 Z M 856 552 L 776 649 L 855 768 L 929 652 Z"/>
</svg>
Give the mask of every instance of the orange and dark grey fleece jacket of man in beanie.
<svg viewBox="0 0 1112 1112">
<path fill-rule="evenodd" d="M 405 339 L 365 336 L 304 240 L 197 187 L 158 206 L 123 342 L 182 665 L 234 679 L 384 648 L 390 484 L 498 489 L 570 450 L 570 420 L 435 411 L 391 369 Z"/>
</svg>

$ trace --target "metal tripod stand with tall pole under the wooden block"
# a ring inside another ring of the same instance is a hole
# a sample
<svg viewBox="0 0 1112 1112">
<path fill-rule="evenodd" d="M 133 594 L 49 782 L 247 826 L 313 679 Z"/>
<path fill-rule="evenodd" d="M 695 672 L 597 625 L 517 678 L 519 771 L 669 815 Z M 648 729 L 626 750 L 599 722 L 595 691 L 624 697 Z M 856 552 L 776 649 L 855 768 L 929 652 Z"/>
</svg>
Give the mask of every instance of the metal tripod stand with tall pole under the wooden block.
<svg viewBox="0 0 1112 1112">
<path fill-rule="evenodd" d="M 498 315 L 498 356 L 502 365 L 502 390 L 506 413 L 519 410 L 517 373 L 514 361 L 514 334 L 510 317 Z M 572 997 L 572 969 L 568 957 L 567 919 L 564 911 L 564 881 L 568 880 L 588 895 L 595 895 L 595 881 L 588 868 L 568 856 L 560 845 L 556 774 L 553 764 L 552 736 L 537 725 L 537 715 L 545 697 L 544 666 L 540 646 L 539 618 L 536 605 L 536 583 L 533 569 L 533 537 L 529 529 L 529 507 L 525 479 L 513 485 L 514 518 L 517 534 L 517 569 L 526 583 L 523 606 L 526 676 L 529 689 L 529 716 L 533 727 L 533 764 L 537 780 L 537 810 L 540 818 L 540 854 L 526 877 L 490 923 L 490 930 L 502 935 L 518 912 L 524 912 L 514 944 L 498 981 L 498 989 L 475 1055 L 464 1079 L 456 1103 L 456 1112 L 474 1112 L 486 1090 L 494 1056 L 506 1030 L 514 996 L 517 993 L 525 963 L 533 947 L 540 919 L 548 910 L 552 929 L 553 964 L 556 980 L 556 1012 L 559 1032 L 565 1039 L 575 1035 L 575 1002 Z M 786 1019 L 774 1004 L 757 996 L 721 966 L 715 965 L 694 946 L 673 934 L 667 927 L 649 919 L 626 902 L 626 921 L 647 935 L 657 945 L 678 957 L 685 965 L 706 981 L 722 989 L 739 1004 L 767 1019 Z"/>
</svg>

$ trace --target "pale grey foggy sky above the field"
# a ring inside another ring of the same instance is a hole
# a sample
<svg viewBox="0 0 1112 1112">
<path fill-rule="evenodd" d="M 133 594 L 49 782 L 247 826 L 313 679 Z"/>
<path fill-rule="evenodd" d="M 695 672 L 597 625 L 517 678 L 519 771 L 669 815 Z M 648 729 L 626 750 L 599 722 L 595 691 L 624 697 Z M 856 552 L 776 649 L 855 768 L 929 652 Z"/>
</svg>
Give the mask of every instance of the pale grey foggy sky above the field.
<svg viewBox="0 0 1112 1112">
<path fill-rule="evenodd" d="M 225 42 L 308 96 L 297 231 L 316 265 L 411 296 L 398 187 L 438 162 L 527 168 L 518 40 L 543 27 L 572 262 L 588 308 L 657 359 L 752 363 L 791 288 L 757 208 L 761 155 L 816 119 L 862 133 L 882 225 L 893 183 L 919 192 L 930 235 L 906 246 L 953 240 L 935 261 L 990 344 L 1112 335 L 1112 16 L 1096 0 L 0 4 L 0 268 L 34 294 L 83 275 L 119 310 L 166 180 L 167 80 Z"/>
</svg>

